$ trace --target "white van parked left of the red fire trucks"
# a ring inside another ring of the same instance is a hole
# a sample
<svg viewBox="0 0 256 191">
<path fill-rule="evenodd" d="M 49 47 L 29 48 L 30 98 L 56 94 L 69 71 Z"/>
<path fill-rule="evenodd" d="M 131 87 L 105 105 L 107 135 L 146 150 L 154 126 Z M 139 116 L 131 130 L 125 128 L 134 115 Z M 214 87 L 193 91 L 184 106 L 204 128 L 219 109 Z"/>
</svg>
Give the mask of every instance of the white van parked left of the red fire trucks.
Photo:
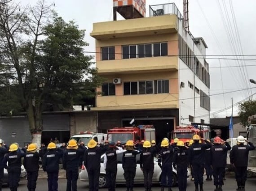
<svg viewBox="0 0 256 191">
<path fill-rule="evenodd" d="M 107 134 L 104 133 L 80 132 L 77 135 L 71 136 L 70 139 L 75 139 L 78 143 L 84 142 L 84 145 L 86 146 L 91 139 L 103 144 L 106 138 Z"/>
</svg>

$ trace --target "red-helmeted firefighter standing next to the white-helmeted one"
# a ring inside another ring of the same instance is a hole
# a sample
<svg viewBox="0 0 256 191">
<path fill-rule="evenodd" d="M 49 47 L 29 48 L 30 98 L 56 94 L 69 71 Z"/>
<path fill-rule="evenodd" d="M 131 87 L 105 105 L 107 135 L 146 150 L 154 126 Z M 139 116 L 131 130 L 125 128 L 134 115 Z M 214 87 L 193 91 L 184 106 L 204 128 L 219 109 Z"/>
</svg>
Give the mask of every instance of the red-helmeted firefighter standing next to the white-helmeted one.
<svg viewBox="0 0 256 191">
<path fill-rule="evenodd" d="M 216 186 L 215 191 L 222 191 L 223 183 L 223 171 L 226 167 L 227 161 L 227 152 L 231 149 L 230 144 L 225 142 L 225 145 L 222 143 L 225 142 L 221 140 L 219 136 L 214 138 L 214 145 L 210 150 L 210 159 L 211 165 L 213 168 L 213 178 L 214 178 L 214 185 Z"/>
</svg>

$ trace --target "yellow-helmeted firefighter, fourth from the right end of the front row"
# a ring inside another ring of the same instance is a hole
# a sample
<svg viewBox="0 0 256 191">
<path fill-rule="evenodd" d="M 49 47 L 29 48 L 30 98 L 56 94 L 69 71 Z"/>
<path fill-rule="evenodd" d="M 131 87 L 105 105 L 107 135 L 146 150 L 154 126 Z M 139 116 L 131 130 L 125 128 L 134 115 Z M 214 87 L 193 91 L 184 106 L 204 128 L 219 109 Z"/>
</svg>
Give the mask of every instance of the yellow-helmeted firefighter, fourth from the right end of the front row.
<svg viewBox="0 0 256 191">
<path fill-rule="evenodd" d="M 178 150 L 174 153 L 173 157 L 173 167 L 177 169 L 179 191 L 186 191 L 189 153 L 183 141 L 178 141 L 177 147 Z"/>
</svg>

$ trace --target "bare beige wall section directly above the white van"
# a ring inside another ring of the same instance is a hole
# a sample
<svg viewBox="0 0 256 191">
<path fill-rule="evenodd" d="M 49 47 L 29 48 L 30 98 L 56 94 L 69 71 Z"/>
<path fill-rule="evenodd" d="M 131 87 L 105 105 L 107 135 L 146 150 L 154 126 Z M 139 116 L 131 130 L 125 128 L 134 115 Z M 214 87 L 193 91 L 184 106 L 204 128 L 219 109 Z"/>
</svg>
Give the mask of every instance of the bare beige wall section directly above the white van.
<svg viewBox="0 0 256 191">
<path fill-rule="evenodd" d="M 71 113 L 71 136 L 85 131 L 97 132 L 97 112 L 82 111 Z"/>
</svg>

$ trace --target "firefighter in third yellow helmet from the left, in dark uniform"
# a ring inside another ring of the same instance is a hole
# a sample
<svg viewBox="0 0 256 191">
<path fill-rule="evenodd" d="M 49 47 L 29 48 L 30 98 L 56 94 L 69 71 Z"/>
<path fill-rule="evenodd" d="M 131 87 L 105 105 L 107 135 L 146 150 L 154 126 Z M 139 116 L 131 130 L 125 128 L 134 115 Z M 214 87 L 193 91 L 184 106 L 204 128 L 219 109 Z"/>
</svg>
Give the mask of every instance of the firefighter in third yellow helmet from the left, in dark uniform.
<svg viewBox="0 0 256 191">
<path fill-rule="evenodd" d="M 56 144 L 50 142 L 48 151 L 44 154 L 43 170 L 47 172 L 48 191 L 58 190 L 59 161 L 63 155 L 62 149 L 57 149 Z"/>
</svg>

